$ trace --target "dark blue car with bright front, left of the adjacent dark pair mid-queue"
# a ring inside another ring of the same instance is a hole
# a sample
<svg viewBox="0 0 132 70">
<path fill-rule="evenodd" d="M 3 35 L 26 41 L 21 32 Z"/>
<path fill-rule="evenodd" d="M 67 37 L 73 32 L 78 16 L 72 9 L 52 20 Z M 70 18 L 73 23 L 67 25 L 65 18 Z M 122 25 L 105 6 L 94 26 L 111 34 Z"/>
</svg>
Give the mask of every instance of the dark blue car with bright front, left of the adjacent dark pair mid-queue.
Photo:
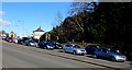
<svg viewBox="0 0 132 70">
<path fill-rule="evenodd" d="M 54 45 L 51 42 L 38 42 L 40 48 L 54 49 Z"/>
</svg>

